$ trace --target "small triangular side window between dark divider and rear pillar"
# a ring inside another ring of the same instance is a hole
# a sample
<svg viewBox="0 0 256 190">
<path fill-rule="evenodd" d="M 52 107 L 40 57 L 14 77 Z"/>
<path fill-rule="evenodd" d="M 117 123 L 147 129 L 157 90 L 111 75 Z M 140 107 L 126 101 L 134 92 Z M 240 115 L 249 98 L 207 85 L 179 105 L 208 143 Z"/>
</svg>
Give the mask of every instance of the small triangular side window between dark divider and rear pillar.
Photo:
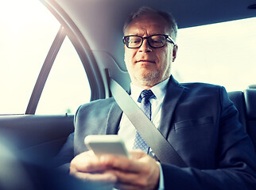
<svg viewBox="0 0 256 190">
<path fill-rule="evenodd" d="M 87 75 L 75 48 L 66 37 L 48 75 L 36 114 L 74 114 L 90 98 Z"/>
</svg>

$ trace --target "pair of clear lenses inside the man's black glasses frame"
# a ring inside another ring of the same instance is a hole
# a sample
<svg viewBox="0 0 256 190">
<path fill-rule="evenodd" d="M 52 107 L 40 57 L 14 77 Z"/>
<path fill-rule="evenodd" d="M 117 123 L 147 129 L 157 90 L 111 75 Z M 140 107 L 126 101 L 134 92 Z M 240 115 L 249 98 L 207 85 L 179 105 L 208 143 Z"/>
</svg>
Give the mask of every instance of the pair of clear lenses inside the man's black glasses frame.
<svg viewBox="0 0 256 190">
<path fill-rule="evenodd" d="M 149 36 L 148 43 L 151 47 L 163 47 L 165 45 L 165 36 Z M 126 38 L 127 47 L 136 48 L 140 47 L 143 43 L 143 38 L 140 36 L 128 36 Z"/>
</svg>

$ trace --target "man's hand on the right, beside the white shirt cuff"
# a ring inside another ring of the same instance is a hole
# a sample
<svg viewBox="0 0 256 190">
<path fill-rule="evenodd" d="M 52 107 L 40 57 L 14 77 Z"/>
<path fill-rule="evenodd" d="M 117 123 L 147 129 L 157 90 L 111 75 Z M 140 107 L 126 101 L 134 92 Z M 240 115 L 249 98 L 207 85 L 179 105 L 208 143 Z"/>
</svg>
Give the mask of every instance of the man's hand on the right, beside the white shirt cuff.
<svg viewBox="0 0 256 190">
<path fill-rule="evenodd" d="M 100 159 L 103 165 L 111 167 L 118 178 L 118 189 L 157 189 L 160 177 L 157 161 L 142 150 L 130 151 L 132 159 L 116 158 L 104 155 Z"/>
</svg>

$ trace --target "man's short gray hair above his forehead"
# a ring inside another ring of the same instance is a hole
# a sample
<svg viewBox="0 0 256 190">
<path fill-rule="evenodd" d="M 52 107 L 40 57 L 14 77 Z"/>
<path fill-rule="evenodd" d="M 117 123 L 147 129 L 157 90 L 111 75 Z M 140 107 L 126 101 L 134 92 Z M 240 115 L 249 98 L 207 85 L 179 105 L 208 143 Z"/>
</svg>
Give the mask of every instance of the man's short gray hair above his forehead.
<svg viewBox="0 0 256 190">
<path fill-rule="evenodd" d="M 173 40 L 176 40 L 176 34 L 177 34 L 177 30 L 178 30 L 178 26 L 176 24 L 176 21 L 174 19 L 174 17 L 172 16 L 171 13 L 166 13 L 164 11 L 158 10 L 158 9 L 154 9 L 152 7 L 149 6 L 142 6 L 140 9 L 134 11 L 133 13 L 130 14 L 130 17 L 128 17 L 126 19 L 125 24 L 123 25 L 123 32 L 125 33 L 126 28 L 130 25 L 130 23 L 132 21 L 134 21 L 134 19 L 147 14 L 147 13 L 157 13 L 158 15 L 160 15 L 161 17 L 165 18 L 165 21 L 168 22 L 168 27 L 169 27 L 169 35 L 172 36 Z"/>
</svg>

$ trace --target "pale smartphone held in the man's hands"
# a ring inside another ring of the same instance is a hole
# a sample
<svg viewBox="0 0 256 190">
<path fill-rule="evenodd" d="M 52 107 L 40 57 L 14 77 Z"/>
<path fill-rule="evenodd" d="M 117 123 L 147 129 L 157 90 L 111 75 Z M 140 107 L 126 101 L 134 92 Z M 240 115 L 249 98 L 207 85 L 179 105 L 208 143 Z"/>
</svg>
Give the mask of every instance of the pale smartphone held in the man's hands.
<svg viewBox="0 0 256 190">
<path fill-rule="evenodd" d="M 114 154 L 130 158 L 125 143 L 118 135 L 87 135 L 84 144 L 92 150 L 96 156 L 102 154 Z"/>
</svg>

